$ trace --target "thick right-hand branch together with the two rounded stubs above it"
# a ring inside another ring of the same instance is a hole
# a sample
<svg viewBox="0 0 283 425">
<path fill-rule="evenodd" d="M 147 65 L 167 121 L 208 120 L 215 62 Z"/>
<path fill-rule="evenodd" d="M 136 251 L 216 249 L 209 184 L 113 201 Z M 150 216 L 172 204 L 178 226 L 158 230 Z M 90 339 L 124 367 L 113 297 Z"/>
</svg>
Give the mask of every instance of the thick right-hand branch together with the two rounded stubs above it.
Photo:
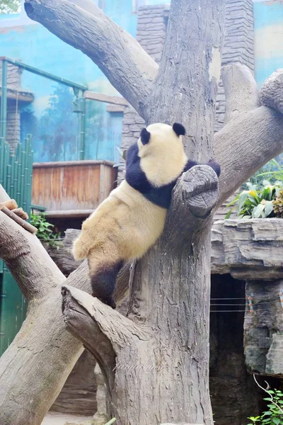
<svg viewBox="0 0 283 425">
<path fill-rule="evenodd" d="M 283 152 L 283 114 L 278 112 L 282 109 L 282 76 L 283 69 L 273 73 L 260 91 L 262 103 L 273 109 L 256 108 L 259 99 L 251 73 L 241 64 L 224 67 L 229 123 L 214 135 L 214 155 L 221 165 L 218 206 L 255 171 Z"/>
</svg>

